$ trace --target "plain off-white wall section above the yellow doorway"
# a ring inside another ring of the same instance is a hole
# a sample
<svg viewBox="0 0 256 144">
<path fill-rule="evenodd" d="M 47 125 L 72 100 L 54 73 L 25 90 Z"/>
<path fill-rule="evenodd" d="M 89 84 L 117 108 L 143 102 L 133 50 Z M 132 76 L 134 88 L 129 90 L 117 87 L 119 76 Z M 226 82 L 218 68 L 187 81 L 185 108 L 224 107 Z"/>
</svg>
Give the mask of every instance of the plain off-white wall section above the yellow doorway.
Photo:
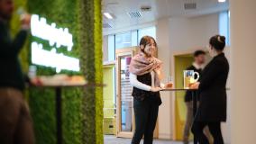
<svg viewBox="0 0 256 144">
<path fill-rule="evenodd" d="M 205 47 L 209 38 L 218 33 L 218 14 L 194 18 L 170 18 L 170 49 L 197 49 Z"/>
</svg>

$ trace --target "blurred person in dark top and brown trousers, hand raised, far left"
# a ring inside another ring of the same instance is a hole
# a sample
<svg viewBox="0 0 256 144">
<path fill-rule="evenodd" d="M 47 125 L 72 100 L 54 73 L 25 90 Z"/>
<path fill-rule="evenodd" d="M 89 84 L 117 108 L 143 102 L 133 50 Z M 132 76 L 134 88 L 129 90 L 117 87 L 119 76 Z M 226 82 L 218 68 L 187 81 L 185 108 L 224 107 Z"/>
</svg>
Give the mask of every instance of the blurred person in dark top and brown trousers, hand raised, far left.
<svg viewBox="0 0 256 144">
<path fill-rule="evenodd" d="M 0 143 L 33 144 L 32 118 L 23 97 L 24 76 L 18 58 L 31 17 L 23 15 L 22 30 L 13 40 L 9 26 L 13 11 L 13 0 L 0 0 Z"/>
</svg>

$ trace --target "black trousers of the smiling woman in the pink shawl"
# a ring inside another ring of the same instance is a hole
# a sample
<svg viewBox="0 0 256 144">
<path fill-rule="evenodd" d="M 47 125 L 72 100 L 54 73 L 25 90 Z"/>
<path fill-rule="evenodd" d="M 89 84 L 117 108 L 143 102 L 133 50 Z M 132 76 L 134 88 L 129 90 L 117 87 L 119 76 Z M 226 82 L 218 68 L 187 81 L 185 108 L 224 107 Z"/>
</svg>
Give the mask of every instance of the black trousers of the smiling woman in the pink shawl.
<svg viewBox="0 0 256 144">
<path fill-rule="evenodd" d="M 153 95 L 151 95 L 153 96 Z M 135 133 L 132 144 L 140 144 L 144 136 L 144 144 L 152 144 L 153 133 L 159 112 L 159 103 L 154 98 L 147 97 L 143 101 L 133 99 L 135 115 Z"/>
</svg>

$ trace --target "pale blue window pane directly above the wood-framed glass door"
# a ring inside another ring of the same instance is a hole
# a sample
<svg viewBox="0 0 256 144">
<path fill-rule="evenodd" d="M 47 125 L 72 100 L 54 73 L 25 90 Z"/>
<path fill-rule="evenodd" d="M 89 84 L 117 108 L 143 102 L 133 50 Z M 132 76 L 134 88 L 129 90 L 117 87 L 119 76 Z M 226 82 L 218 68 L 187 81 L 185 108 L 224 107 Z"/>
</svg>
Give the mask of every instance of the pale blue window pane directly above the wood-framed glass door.
<svg viewBox="0 0 256 144">
<path fill-rule="evenodd" d="M 124 32 L 115 35 L 115 49 L 122 49 L 132 46 L 132 32 Z"/>
</svg>

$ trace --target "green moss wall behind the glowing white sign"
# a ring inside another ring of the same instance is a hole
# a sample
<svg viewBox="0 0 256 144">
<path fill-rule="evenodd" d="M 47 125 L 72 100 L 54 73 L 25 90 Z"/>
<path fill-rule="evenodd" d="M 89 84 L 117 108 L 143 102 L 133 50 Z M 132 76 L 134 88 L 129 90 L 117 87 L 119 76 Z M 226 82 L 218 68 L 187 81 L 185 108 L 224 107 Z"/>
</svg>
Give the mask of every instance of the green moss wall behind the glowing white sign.
<svg viewBox="0 0 256 144">
<path fill-rule="evenodd" d="M 39 14 L 47 23 L 69 28 L 74 46 L 71 52 L 57 49 L 80 59 L 81 72 L 90 84 L 102 84 L 102 15 L 100 0 L 16 0 L 30 14 Z M 19 30 L 19 16 L 14 14 L 13 33 Z M 49 49 L 49 42 L 30 36 L 21 53 L 23 71 L 31 65 L 30 43 L 37 41 Z M 38 75 L 54 75 L 55 69 L 37 67 Z M 103 143 L 103 88 L 65 88 L 62 91 L 62 130 L 65 144 Z M 51 88 L 30 88 L 28 93 L 37 144 L 56 143 L 55 92 Z"/>
</svg>

